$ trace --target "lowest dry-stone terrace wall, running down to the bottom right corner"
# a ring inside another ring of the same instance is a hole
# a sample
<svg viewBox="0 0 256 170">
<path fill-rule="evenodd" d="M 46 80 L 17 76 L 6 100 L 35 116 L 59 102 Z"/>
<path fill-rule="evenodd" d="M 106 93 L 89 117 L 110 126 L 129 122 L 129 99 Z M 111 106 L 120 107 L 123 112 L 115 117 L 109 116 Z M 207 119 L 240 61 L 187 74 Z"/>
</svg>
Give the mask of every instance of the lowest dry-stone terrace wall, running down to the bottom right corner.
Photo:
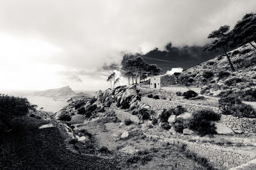
<svg viewBox="0 0 256 170">
<path fill-rule="evenodd" d="M 211 166 L 217 169 L 229 169 L 232 167 L 241 166 L 246 164 L 250 160 L 256 158 L 256 153 L 250 153 L 246 151 L 232 150 L 216 146 L 214 144 L 198 144 L 181 139 L 172 139 L 166 137 L 159 137 L 157 135 L 145 134 L 149 139 L 161 139 L 164 142 L 168 142 L 175 146 L 186 146 L 186 149 L 192 151 L 199 157 L 204 157 L 209 161 Z"/>
</svg>

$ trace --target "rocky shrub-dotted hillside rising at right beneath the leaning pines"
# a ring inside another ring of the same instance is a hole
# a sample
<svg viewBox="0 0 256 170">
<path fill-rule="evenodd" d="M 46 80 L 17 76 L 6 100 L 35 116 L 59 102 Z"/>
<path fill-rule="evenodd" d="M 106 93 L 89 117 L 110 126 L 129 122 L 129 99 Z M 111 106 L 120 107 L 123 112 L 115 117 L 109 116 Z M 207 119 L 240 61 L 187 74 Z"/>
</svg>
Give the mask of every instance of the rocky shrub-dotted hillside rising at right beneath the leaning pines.
<svg viewBox="0 0 256 170">
<path fill-rule="evenodd" d="M 227 57 L 221 55 L 185 70 L 178 83 L 200 87 L 205 95 L 222 97 L 236 93 L 246 101 L 256 101 L 256 50 L 246 44 L 228 54 L 235 72 L 231 71 Z"/>
</svg>

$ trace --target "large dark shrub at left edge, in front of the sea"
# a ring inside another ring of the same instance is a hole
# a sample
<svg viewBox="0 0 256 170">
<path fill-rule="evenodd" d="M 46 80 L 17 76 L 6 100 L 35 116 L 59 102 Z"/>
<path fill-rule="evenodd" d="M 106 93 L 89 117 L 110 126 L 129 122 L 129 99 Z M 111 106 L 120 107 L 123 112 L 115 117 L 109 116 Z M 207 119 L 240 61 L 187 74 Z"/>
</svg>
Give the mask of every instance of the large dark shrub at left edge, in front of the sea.
<svg viewBox="0 0 256 170">
<path fill-rule="evenodd" d="M 12 97 L 0 94 L 0 118 L 23 116 L 29 110 L 35 111 L 36 105 L 31 105 L 27 98 Z"/>
</svg>

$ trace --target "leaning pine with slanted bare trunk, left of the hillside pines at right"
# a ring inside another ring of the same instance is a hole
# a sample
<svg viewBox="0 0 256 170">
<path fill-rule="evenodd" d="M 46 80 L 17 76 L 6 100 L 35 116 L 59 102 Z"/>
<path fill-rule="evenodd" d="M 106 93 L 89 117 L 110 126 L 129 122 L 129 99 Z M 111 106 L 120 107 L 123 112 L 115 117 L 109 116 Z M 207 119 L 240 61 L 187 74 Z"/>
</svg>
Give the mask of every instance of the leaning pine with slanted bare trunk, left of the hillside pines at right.
<svg viewBox="0 0 256 170">
<path fill-rule="evenodd" d="M 230 60 L 230 56 L 228 56 L 227 54 L 227 50 L 228 50 L 228 42 L 230 42 L 230 33 L 229 31 L 229 26 L 221 26 L 218 30 L 212 31 L 211 34 L 209 34 L 208 38 L 213 38 L 214 41 L 211 43 L 211 45 L 209 45 L 209 47 L 206 47 L 204 50 L 208 50 L 208 51 L 218 51 L 218 49 L 223 49 L 223 51 L 225 52 L 227 59 L 228 59 L 228 63 L 232 69 L 232 71 L 234 72 L 234 66 Z"/>
</svg>

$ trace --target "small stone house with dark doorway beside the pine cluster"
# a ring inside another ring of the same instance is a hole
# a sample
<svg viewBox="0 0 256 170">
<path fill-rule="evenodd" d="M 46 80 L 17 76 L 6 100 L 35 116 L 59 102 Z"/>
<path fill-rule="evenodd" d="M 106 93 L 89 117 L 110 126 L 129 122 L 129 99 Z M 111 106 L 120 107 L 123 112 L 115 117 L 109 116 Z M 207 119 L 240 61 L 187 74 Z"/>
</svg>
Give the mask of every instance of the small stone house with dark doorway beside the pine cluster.
<svg viewBox="0 0 256 170">
<path fill-rule="evenodd" d="M 152 89 L 161 89 L 161 87 L 173 84 L 177 84 L 177 78 L 170 74 L 158 75 L 150 79 L 150 88 Z"/>
</svg>

